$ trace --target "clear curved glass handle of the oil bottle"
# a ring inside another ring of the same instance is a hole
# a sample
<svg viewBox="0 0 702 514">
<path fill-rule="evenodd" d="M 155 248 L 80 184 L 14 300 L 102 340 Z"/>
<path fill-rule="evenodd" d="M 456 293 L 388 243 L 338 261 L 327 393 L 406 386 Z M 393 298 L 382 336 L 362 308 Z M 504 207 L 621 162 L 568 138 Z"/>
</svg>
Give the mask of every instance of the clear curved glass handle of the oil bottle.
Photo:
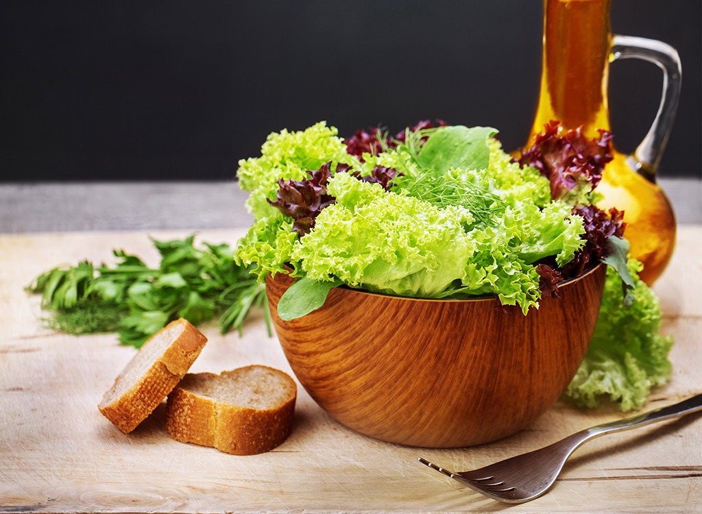
<svg viewBox="0 0 702 514">
<path fill-rule="evenodd" d="M 656 170 L 661 162 L 665 144 L 673 129 L 673 121 L 680 100 L 682 66 L 680 56 L 673 46 L 656 39 L 614 35 L 612 37 L 609 62 L 617 59 L 642 59 L 653 62 L 663 71 L 661 105 L 651 128 L 627 159 L 629 166 L 642 176 L 656 182 Z"/>
</svg>

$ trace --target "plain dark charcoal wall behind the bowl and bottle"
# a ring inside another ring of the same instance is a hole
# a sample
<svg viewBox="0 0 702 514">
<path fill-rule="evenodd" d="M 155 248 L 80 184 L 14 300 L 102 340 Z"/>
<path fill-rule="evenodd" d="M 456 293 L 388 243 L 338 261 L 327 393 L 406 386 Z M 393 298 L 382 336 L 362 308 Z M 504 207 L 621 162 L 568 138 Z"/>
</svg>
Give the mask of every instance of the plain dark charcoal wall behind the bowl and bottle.
<svg viewBox="0 0 702 514">
<path fill-rule="evenodd" d="M 700 176 L 701 2 L 613 0 L 614 32 L 683 63 L 661 176 Z M 418 119 L 525 142 L 541 72 L 541 0 L 3 1 L 0 180 L 232 178 L 271 131 L 342 136 Z M 611 66 L 615 143 L 631 152 L 661 72 Z"/>
</svg>

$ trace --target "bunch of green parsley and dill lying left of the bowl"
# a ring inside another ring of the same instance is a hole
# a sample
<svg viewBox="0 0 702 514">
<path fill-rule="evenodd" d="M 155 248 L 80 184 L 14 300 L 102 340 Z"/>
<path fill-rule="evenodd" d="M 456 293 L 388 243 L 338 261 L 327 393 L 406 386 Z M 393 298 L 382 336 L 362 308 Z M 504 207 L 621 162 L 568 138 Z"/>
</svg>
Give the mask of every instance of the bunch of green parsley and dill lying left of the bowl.
<svg viewBox="0 0 702 514">
<path fill-rule="evenodd" d="M 53 313 L 46 319 L 51 328 L 67 334 L 116 331 L 121 343 L 136 348 L 178 317 L 197 325 L 218 316 L 223 334 L 241 331 L 251 308 L 265 303 L 265 287 L 234 263 L 228 244 L 196 248 L 194 236 L 152 242 L 161 254 L 159 268 L 114 250 L 112 267 L 82 261 L 54 268 L 27 289 L 42 295 L 41 307 Z"/>
</svg>

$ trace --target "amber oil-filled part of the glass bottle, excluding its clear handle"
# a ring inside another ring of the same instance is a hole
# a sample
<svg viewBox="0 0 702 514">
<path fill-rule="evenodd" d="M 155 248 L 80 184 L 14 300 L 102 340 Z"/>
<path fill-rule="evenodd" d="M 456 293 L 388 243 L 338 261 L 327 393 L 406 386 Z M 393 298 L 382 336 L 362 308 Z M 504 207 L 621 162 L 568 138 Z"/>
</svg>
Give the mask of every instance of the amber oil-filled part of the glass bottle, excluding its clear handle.
<svg viewBox="0 0 702 514">
<path fill-rule="evenodd" d="M 609 8 L 610 0 L 544 0 L 541 90 L 529 141 L 552 119 L 566 129 L 582 126 L 590 138 L 598 136 L 597 129 L 611 130 Z M 673 209 L 661 188 L 632 168 L 628 156 L 613 153 L 597 187 L 603 196 L 598 206 L 624 211 L 630 254 L 644 263 L 640 276 L 652 284 L 675 247 Z"/>
</svg>

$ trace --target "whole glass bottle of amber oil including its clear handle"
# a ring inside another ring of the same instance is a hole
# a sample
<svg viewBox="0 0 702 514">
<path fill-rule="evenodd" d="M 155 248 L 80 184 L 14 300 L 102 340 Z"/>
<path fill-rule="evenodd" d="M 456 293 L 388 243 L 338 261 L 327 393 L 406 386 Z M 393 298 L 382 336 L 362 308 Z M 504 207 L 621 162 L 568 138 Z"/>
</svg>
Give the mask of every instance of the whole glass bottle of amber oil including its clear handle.
<svg viewBox="0 0 702 514">
<path fill-rule="evenodd" d="M 610 62 L 640 58 L 661 67 L 663 98 L 651 129 L 633 155 L 615 149 L 597 187 L 602 209 L 624 211 L 630 254 L 644 263 L 640 277 L 650 285 L 675 247 L 675 215 L 656 185 L 656 168 L 677 110 L 680 58 L 661 41 L 611 34 L 609 7 L 610 0 L 544 0 L 541 91 L 529 141 L 552 119 L 567 129 L 583 126 L 590 138 L 597 129 L 611 130 Z"/>
</svg>

